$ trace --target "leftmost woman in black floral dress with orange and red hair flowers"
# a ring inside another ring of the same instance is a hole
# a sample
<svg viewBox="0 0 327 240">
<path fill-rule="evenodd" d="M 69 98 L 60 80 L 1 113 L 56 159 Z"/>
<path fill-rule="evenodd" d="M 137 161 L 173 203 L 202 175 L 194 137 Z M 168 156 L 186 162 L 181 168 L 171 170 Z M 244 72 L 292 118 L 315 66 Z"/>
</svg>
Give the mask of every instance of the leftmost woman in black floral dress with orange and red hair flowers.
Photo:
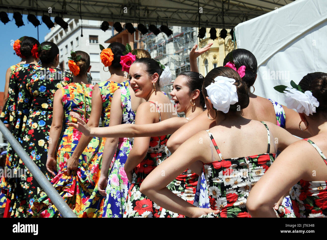
<svg viewBox="0 0 327 240">
<path fill-rule="evenodd" d="M 10 132 L 20 143 L 22 142 L 21 133 L 24 131 L 27 114 L 29 111 L 29 106 L 24 102 L 26 101 L 26 93 L 22 90 L 22 86 L 26 84 L 26 75 L 41 68 L 41 66 L 38 65 L 39 44 L 39 41 L 32 37 L 26 37 L 22 42 L 20 51 L 21 54 L 26 57 L 26 63 L 20 65 L 16 69 L 16 72 L 11 74 L 8 100 L 3 107 L 3 112 L 1 113 L 0 117 L 0 120 L 2 120 L 5 124 L 8 124 Z M 13 155 L 14 151 L 11 146 L 8 145 L 6 167 L 17 169 L 19 162 L 13 162 Z M 5 217 L 24 217 L 26 214 L 26 205 L 28 206 L 28 203 L 26 203 L 25 200 L 21 200 L 21 197 L 24 198 L 22 193 L 17 192 L 17 194 L 19 194 L 17 195 L 17 198 L 13 197 L 13 193 L 16 193 L 15 188 L 18 185 L 21 186 L 19 184 L 21 178 L 25 178 L 25 176 L 20 176 L 19 178 L 5 178 L 3 176 L 1 179 L 0 188 L 2 188 L 3 191 L 7 191 L 7 208 L 5 209 Z M 14 209 L 12 209 L 11 206 L 13 206 Z"/>
</svg>

